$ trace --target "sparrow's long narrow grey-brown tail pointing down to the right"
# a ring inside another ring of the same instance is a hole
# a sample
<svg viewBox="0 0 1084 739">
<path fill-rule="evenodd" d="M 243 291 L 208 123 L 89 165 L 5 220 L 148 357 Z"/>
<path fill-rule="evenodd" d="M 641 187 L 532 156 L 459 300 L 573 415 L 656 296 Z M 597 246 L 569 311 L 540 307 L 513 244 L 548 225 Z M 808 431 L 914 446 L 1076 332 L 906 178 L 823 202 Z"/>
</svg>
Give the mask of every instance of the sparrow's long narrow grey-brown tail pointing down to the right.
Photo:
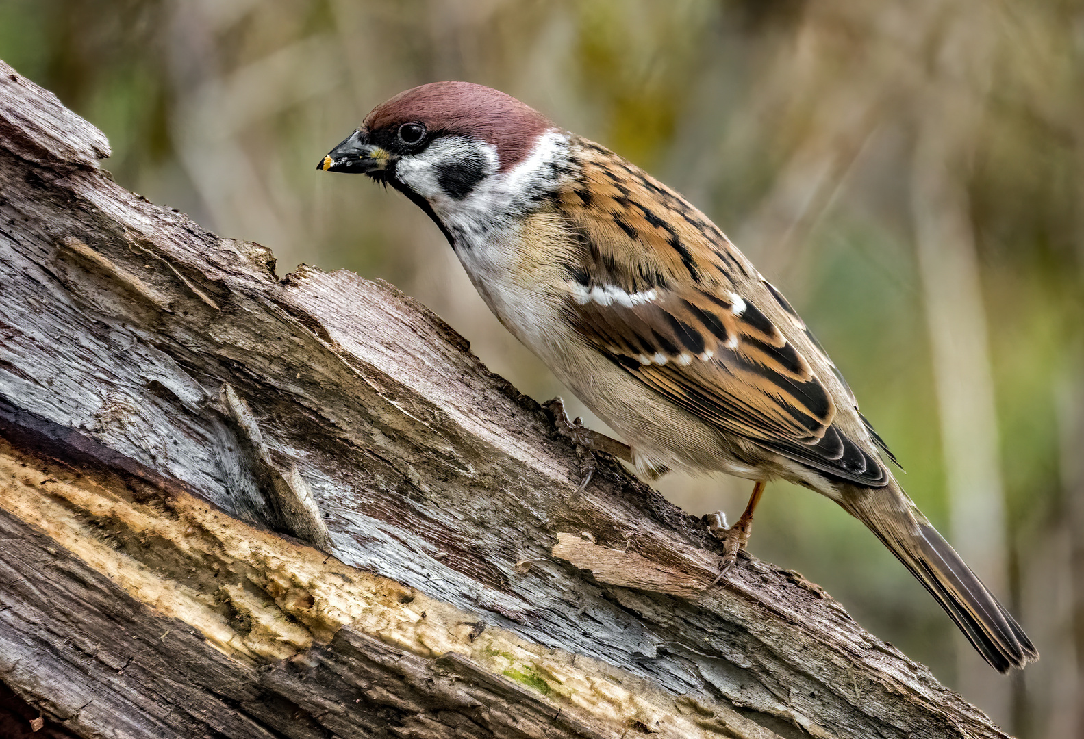
<svg viewBox="0 0 1084 739">
<path fill-rule="evenodd" d="M 885 488 L 846 485 L 841 504 L 869 527 L 926 586 L 997 672 L 1023 667 L 1038 652 L 1016 619 L 918 511 L 895 480 Z"/>
</svg>

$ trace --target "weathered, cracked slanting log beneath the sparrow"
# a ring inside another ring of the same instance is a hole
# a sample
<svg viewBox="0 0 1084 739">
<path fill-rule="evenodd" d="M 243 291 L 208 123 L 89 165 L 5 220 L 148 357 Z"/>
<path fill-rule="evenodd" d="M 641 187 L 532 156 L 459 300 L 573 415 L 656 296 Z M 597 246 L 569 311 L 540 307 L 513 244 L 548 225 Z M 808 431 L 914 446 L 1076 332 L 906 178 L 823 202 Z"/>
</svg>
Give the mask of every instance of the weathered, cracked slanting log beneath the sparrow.
<svg viewBox="0 0 1084 739">
<path fill-rule="evenodd" d="M 581 452 L 424 307 L 280 277 L 117 186 L 107 152 L 0 67 L 18 715 L 79 737 L 1004 736 L 800 575 L 743 555 L 712 584 L 718 544 L 609 457 L 579 491 Z"/>
</svg>

